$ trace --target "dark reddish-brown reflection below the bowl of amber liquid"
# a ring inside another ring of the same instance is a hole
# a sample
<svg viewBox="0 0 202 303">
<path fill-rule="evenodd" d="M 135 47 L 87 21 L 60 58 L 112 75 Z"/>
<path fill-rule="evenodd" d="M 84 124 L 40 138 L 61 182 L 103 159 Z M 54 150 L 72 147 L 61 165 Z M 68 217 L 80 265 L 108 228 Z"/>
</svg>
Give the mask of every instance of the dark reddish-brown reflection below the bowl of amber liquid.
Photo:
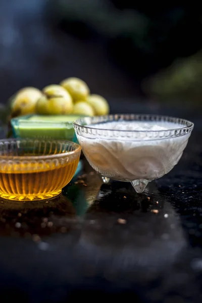
<svg viewBox="0 0 202 303">
<path fill-rule="evenodd" d="M 0 235 L 22 237 L 39 242 L 43 237 L 72 231 L 70 240 L 75 241 L 77 216 L 72 201 L 63 194 L 48 200 L 19 201 L 0 198 Z M 47 240 L 47 238 L 46 238 Z"/>
</svg>

